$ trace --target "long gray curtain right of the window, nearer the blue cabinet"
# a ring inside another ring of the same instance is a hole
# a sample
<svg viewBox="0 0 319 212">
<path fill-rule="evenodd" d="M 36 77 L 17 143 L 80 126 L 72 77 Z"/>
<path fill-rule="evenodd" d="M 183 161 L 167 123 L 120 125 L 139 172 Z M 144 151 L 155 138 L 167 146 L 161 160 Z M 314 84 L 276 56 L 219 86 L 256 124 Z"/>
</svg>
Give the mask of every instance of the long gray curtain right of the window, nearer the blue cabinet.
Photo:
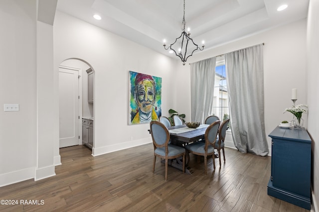
<svg viewBox="0 0 319 212">
<path fill-rule="evenodd" d="M 263 44 L 225 54 L 231 131 L 236 148 L 265 156 Z"/>
</svg>

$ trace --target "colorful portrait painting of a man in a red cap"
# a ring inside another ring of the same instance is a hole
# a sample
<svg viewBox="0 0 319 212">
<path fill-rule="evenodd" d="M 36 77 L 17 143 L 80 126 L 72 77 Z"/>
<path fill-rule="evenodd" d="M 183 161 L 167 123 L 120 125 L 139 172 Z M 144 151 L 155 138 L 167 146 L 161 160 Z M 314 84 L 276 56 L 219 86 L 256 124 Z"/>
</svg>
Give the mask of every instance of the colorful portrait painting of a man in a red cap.
<svg viewBox="0 0 319 212">
<path fill-rule="evenodd" d="M 150 123 L 161 116 L 161 78 L 129 73 L 129 125 Z"/>
</svg>

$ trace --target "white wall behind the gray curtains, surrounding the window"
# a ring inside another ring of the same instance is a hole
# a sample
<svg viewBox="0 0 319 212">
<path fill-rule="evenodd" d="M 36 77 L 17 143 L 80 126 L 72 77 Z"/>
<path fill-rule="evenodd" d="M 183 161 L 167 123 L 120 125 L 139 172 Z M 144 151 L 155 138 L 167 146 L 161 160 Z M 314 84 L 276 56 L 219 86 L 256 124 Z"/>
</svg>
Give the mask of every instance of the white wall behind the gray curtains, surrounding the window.
<svg viewBox="0 0 319 212">
<path fill-rule="evenodd" d="M 283 114 L 285 108 L 292 106 L 291 90 L 298 89 L 297 104 L 306 104 L 306 26 L 305 19 L 265 31 L 251 37 L 221 45 L 192 56 L 188 63 L 222 55 L 260 43 L 264 45 L 264 94 L 265 131 L 271 154 L 271 139 L 268 135 L 282 120 L 292 120 L 292 114 Z M 186 68 L 187 66 L 187 68 Z M 182 74 L 183 73 L 183 74 Z M 189 83 L 189 65 L 180 69 L 181 81 Z M 188 88 L 187 88 L 188 89 Z M 181 90 L 179 91 L 181 92 Z M 185 102 L 183 111 L 190 111 Z M 189 112 L 190 113 L 190 112 Z M 307 126 L 307 116 L 303 116 Z"/>
</svg>

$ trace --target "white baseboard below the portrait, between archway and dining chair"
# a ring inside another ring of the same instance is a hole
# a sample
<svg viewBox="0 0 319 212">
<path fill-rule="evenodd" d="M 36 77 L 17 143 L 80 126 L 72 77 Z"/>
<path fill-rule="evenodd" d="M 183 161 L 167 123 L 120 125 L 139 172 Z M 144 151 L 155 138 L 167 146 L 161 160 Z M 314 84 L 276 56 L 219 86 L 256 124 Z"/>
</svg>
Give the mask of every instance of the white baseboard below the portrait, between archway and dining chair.
<svg viewBox="0 0 319 212">
<path fill-rule="evenodd" d="M 152 143 L 152 138 L 146 138 L 146 139 L 140 139 L 140 140 L 135 140 L 135 141 L 127 141 L 124 143 L 119 143 L 119 144 L 112 144 L 108 146 L 103 146 L 103 147 L 98 147 L 98 148 L 92 148 L 92 156 L 98 156 L 101 154 L 106 154 L 114 151 L 119 151 L 147 143 Z"/>
</svg>

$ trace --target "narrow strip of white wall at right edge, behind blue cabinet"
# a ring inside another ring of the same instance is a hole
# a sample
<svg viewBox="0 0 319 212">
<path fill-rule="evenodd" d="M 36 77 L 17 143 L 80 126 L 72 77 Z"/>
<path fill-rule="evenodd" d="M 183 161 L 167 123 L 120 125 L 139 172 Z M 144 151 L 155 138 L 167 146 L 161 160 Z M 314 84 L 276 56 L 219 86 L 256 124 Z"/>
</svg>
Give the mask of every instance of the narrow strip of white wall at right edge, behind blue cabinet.
<svg viewBox="0 0 319 212">
<path fill-rule="evenodd" d="M 307 26 L 308 131 L 312 142 L 313 208 L 319 211 L 319 0 L 310 0 Z M 316 196 L 315 196 L 316 195 Z"/>
</svg>

